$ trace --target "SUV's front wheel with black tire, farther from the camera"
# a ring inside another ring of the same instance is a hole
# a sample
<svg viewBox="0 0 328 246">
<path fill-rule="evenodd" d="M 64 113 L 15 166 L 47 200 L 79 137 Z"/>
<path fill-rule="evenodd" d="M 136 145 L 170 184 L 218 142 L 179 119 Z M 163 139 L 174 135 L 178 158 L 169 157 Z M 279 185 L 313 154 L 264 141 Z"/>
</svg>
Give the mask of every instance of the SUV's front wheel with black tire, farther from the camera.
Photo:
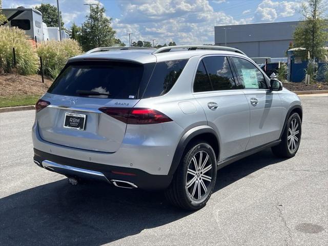
<svg viewBox="0 0 328 246">
<path fill-rule="evenodd" d="M 295 148 L 290 148 L 289 147 L 289 134 L 291 131 L 291 127 L 292 127 L 292 121 L 293 122 L 297 122 L 298 124 L 298 128 L 297 131 L 298 133 L 295 134 L 295 136 L 297 137 L 298 141 L 296 143 L 296 145 L 294 146 Z M 291 158 L 294 157 L 295 154 L 298 151 L 300 142 L 301 142 L 301 135 L 302 135 L 302 121 L 301 118 L 299 117 L 298 113 L 293 113 L 287 120 L 286 123 L 286 127 L 285 130 L 282 134 L 281 137 L 281 142 L 279 145 L 274 146 L 271 148 L 272 152 L 277 156 L 277 157 L 281 157 L 281 158 Z"/>
</svg>

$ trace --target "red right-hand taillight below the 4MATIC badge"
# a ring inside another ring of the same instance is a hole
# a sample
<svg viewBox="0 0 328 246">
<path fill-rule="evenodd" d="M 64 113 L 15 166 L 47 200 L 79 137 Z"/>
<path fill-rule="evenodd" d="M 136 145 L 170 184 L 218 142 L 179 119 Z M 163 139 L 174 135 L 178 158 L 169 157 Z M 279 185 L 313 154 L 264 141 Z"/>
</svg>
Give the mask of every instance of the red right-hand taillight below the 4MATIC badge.
<svg viewBox="0 0 328 246">
<path fill-rule="evenodd" d="M 167 115 L 154 109 L 104 107 L 99 110 L 115 119 L 132 125 L 157 124 L 172 121 Z"/>
</svg>

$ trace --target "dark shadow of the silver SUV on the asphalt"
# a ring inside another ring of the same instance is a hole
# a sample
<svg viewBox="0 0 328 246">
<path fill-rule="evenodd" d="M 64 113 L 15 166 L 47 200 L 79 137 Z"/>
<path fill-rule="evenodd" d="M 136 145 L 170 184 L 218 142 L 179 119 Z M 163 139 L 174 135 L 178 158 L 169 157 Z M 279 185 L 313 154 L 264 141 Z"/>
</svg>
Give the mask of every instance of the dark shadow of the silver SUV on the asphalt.
<svg viewBox="0 0 328 246">
<path fill-rule="evenodd" d="M 239 160 L 218 171 L 215 191 L 281 160 L 270 150 Z M 4 197 L 0 208 L 1 245 L 100 245 L 192 213 L 171 207 L 162 192 L 67 179 Z"/>
</svg>

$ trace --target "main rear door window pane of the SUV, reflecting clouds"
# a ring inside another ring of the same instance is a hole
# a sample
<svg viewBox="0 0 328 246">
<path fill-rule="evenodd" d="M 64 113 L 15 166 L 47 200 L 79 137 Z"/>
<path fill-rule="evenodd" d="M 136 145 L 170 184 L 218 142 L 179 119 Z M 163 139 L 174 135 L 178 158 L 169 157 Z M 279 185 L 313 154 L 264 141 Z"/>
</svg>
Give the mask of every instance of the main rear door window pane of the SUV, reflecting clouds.
<svg viewBox="0 0 328 246">
<path fill-rule="evenodd" d="M 239 89 L 231 72 L 229 61 L 225 56 L 203 58 L 214 91 Z"/>
</svg>

